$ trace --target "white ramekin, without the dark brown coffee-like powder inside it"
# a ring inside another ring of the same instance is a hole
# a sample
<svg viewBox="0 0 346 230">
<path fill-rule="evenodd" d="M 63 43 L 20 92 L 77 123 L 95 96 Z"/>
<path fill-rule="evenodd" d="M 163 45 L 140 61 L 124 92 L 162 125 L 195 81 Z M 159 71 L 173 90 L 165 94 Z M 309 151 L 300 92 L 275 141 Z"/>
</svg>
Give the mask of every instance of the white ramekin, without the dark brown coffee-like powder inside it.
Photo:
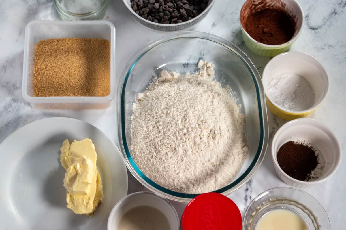
<svg viewBox="0 0 346 230">
<path fill-rule="evenodd" d="M 325 162 L 324 168 L 319 171 L 321 176 L 313 181 L 300 181 L 290 177 L 279 166 L 276 159 L 280 147 L 292 140 L 302 140 L 318 150 L 320 162 Z M 277 130 L 272 142 L 272 159 L 276 173 L 290 186 L 308 188 L 330 178 L 338 169 L 341 162 L 341 146 L 335 135 L 328 127 L 319 121 L 310 118 L 300 118 L 284 124 Z"/>
</svg>

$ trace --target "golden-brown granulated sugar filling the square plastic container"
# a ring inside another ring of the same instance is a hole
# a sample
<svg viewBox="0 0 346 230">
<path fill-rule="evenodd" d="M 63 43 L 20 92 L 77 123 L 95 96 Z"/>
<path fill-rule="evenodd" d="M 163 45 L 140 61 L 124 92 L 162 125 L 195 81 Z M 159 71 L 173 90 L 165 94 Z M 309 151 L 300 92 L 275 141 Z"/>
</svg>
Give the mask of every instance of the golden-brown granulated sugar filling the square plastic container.
<svg viewBox="0 0 346 230">
<path fill-rule="evenodd" d="M 34 97 L 104 97 L 110 93 L 110 42 L 58 38 L 37 42 Z"/>
</svg>

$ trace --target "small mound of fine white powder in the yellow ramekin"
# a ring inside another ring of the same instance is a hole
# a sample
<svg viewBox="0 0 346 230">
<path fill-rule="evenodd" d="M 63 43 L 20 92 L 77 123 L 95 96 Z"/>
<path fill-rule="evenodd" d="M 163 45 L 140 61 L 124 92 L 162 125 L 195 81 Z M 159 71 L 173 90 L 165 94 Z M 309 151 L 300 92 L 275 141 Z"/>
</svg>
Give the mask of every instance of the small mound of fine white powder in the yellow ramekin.
<svg viewBox="0 0 346 230">
<path fill-rule="evenodd" d="M 281 108 L 302 111 L 313 106 L 313 91 L 304 78 L 294 73 L 282 73 L 271 79 L 268 97 Z"/>
</svg>

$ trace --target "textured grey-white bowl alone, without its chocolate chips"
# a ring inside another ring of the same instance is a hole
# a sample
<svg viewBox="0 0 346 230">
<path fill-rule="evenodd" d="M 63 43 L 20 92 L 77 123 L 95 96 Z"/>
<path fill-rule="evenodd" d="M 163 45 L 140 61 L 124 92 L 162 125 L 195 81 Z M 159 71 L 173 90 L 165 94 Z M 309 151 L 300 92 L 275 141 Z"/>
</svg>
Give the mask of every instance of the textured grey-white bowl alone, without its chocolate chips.
<svg viewBox="0 0 346 230">
<path fill-rule="evenodd" d="M 131 2 L 130 0 L 122 0 L 127 7 L 127 9 L 131 12 L 131 16 L 140 24 L 142 24 L 145 27 L 148 27 L 153 30 L 158 30 L 158 31 L 164 31 L 164 32 L 171 32 L 171 31 L 178 31 L 178 30 L 184 30 L 189 27 L 194 26 L 198 22 L 200 22 L 209 12 L 211 9 L 212 5 L 214 4 L 215 0 L 209 0 L 208 6 L 202 13 L 200 13 L 197 17 L 188 20 L 186 22 L 182 23 L 176 23 L 176 24 L 160 24 L 160 23 L 155 23 L 151 22 L 149 20 L 146 20 L 142 17 L 140 17 L 133 9 L 131 8 Z"/>
</svg>

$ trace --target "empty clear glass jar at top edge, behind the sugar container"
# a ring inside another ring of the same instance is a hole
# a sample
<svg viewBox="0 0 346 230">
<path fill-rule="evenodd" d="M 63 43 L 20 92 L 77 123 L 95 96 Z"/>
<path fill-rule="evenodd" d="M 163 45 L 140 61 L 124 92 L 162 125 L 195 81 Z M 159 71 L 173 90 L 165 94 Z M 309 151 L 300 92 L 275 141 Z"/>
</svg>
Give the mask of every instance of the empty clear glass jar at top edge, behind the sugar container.
<svg viewBox="0 0 346 230">
<path fill-rule="evenodd" d="M 65 21 L 102 20 L 108 0 L 54 0 L 60 18 Z"/>
</svg>

